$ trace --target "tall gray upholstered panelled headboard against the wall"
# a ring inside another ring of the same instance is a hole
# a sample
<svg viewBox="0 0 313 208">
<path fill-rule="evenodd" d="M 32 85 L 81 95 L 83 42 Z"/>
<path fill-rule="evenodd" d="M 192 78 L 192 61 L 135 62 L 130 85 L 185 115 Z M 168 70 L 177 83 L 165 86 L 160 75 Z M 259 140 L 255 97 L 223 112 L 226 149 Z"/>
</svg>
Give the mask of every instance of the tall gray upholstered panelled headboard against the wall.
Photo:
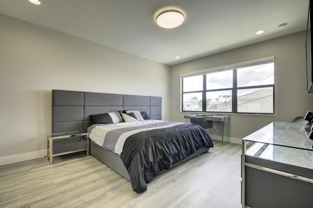
<svg viewBox="0 0 313 208">
<path fill-rule="evenodd" d="M 162 97 L 52 90 L 52 133 L 86 131 L 89 115 L 123 110 L 161 120 Z"/>
</svg>

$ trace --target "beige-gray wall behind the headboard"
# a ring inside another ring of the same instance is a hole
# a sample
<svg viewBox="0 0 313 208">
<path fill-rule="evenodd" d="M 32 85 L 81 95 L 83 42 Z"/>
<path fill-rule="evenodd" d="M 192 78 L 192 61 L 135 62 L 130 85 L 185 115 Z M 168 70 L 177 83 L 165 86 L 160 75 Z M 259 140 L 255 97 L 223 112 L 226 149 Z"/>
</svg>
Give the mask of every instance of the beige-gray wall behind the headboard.
<svg viewBox="0 0 313 208">
<path fill-rule="evenodd" d="M 169 66 L 1 14 L 0 48 L 0 165 L 46 155 L 52 89 L 161 96 L 169 120 Z"/>
</svg>

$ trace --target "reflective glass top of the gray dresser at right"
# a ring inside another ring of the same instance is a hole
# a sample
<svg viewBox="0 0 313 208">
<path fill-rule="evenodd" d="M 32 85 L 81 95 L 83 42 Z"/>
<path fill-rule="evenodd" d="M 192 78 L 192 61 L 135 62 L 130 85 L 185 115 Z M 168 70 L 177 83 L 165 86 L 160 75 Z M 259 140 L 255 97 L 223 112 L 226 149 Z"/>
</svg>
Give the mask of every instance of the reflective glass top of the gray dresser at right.
<svg viewBox="0 0 313 208">
<path fill-rule="evenodd" d="M 244 140 L 313 151 L 306 132 L 311 132 L 311 126 L 304 123 L 272 122 Z"/>
</svg>

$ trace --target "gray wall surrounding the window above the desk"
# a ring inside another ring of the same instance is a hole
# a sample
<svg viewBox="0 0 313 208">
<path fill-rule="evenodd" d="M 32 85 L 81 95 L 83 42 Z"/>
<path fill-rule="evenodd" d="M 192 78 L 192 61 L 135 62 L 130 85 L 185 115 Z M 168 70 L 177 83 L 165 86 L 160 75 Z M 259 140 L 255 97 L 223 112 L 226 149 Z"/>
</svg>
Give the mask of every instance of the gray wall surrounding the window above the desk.
<svg viewBox="0 0 313 208">
<path fill-rule="evenodd" d="M 292 122 L 313 111 L 313 94 L 306 92 L 305 39 L 306 33 L 300 32 L 172 66 L 171 120 L 185 121 L 186 113 L 179 112 L 179 75 L 271 56 L 275 56 L 275 116 L 231 114 L 230 137 L 242 139 L 272 121 Z"/>
</svg>

